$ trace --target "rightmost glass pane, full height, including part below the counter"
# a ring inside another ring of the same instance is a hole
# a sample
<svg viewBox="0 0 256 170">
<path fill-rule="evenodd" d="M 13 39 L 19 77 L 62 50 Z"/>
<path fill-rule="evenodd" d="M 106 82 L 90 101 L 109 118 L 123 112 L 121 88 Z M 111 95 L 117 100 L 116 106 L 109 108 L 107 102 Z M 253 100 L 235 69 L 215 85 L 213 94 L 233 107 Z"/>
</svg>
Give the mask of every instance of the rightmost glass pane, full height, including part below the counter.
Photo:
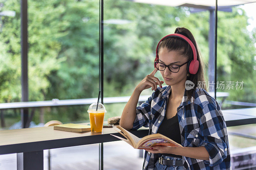
<svg viewBox="0 0 256 170">
<path fill-rule="evenodd" d="M 253 117 L 253 111 L 246 108 L 256 108 L 255 7 L 256 3 L 250 3 L 218 11 L 217 92 L 226 93 L 221 99 L 222 110 L 232 113 L 234 110 L 229 109 L 239 109 L 234 117 Z M 248 138 L 256 135 L 255 128 L 255 124 L 227 128 L 232 169 L 255 166 L 252 155 L 256 152 L 256 140 Z"/>
</svg>

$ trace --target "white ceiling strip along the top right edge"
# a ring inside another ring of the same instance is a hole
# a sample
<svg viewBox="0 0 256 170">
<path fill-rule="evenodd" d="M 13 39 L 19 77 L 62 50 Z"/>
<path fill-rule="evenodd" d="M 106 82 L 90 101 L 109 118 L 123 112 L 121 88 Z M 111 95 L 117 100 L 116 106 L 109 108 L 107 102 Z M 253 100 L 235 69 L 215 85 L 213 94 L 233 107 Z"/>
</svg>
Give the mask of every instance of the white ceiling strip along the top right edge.
<svg viewBox="0 0 256 170">
<path fill-rule="evenodd" d="M 164 6 L 180 6 L 183 4 L 194 4 L 203 6 L 215 6 L 215 0 L 132 0 L 137 3 L 156 4 Z M 256 0 L 218 0 L 218 6 L 232 6 L 254 3 Z"/>
</svg>

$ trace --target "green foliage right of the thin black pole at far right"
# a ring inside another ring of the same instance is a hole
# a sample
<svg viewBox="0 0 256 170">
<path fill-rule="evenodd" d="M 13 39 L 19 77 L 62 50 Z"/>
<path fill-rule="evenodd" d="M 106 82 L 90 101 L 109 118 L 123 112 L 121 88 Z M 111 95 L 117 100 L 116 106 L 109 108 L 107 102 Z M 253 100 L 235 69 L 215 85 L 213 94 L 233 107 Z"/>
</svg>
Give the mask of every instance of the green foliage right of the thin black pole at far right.
<svg viewBox="0 0 256 170">
<path fill-rule="evenodd" d="M 238 13 L 242 11 L 240 15 Z M 229 100 L 256 103 L 256 71 L 254 56 L 256 28 L 246 29 L 248 17 L 241 8 L 233 8 L 231 13 L 218 15 L 218 80 L 242 82 L 243 89 L 230 89 Z M 239 35 L 239 36 L 237 36 Z M 239 84 L 240 85 L 240 84 Z"/>
</svg>

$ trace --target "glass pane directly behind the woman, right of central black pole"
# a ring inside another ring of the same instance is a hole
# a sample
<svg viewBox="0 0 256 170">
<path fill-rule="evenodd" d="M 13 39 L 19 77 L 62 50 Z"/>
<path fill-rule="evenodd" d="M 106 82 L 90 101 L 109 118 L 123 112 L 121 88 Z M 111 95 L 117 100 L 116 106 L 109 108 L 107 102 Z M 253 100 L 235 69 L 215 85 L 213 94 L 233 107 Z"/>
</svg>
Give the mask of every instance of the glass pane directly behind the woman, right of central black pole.
<svg viewBox="0 0 256 170">
<path fill-rule="evenodd" d="M 154 70 L 157 43 L 177 27 L 186 27 L 193 33 L 208 71 L 209 17 L 207 10 L 196 12 L 185 6 L 104 0 L 104 97 L 131 96 L 140 81 Z M 155 77 L 164 81 L 160 72 Z M 152 93 L 149 88 L 140 96 L 148 98 Z M 108 111 L 105 118 L 121 116 L 125 104 L 105 104 Z M 139 150 L 117 141 L 114 154 L 105 152 L 113 149 L 112 145 L 104 143 L 104 167 L 122 169 L 125 164 L 142 168 L 144 159 L 139 157 Z"/>
</svg>

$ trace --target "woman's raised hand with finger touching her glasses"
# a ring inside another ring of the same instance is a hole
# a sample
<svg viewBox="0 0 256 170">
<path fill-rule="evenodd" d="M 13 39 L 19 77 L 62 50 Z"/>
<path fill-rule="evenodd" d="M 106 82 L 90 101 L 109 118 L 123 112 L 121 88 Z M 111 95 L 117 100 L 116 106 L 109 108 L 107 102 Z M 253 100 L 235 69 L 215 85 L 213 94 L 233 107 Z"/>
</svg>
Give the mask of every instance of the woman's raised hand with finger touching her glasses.
<svg viewBox="0 0 256 170">
<path fill-rule="evenodd" d="M 150 87 L 152 87 L 152 90 L 154 89 L 156 91 L 157 85 L 162 88 L 164 81 L 160 81 L 157 77 L 154 76 L 156 72 L 157 68 L 155 68 L 152 73 L 148 74 L 142 81 L 140 81 L 135 89 L 139 92 L 142 92 L 143 90 L 149 89 Z"/>
</svg>

